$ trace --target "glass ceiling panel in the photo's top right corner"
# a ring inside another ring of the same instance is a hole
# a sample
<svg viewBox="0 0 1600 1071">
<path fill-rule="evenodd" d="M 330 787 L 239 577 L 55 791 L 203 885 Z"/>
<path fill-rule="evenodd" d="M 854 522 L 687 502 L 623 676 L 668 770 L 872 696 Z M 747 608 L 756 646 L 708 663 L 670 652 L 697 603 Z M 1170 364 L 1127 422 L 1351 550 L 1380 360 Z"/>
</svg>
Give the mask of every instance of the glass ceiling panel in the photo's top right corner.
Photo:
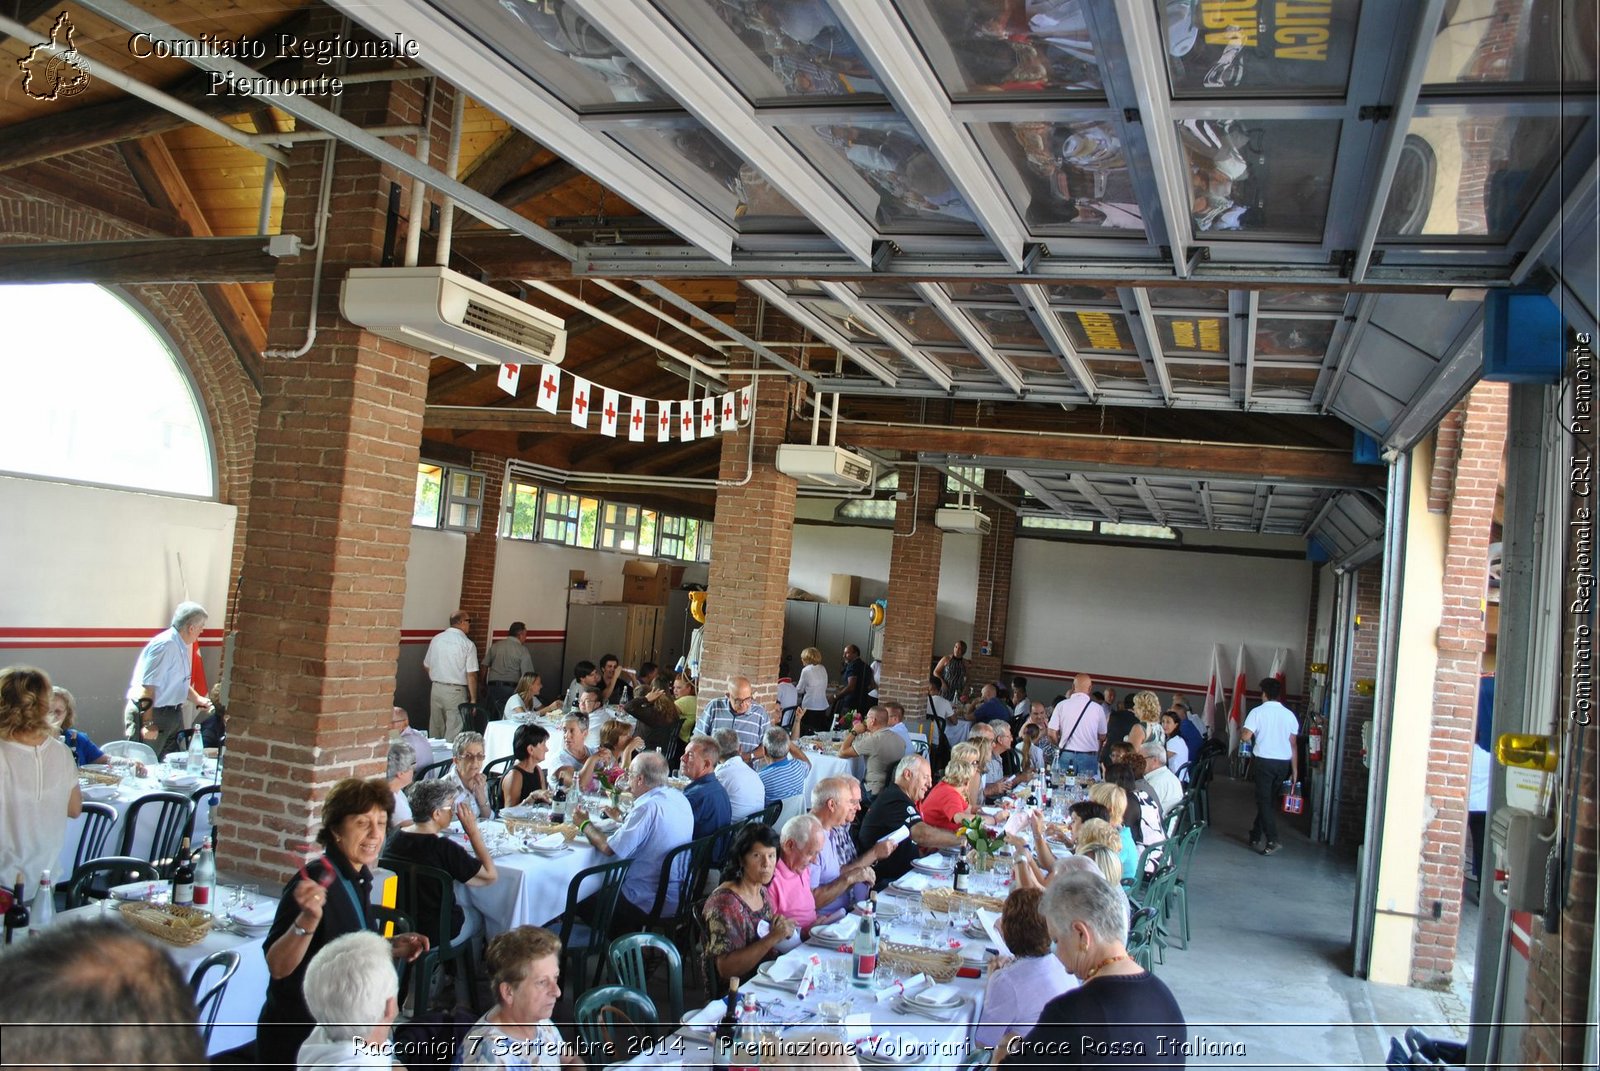
<svg viewBox="0 0 1600 1071">
<path fill-rule="evenodd" d="M 1594 85 L 1594 19 L 1587 0 L 1456 0 L 1438 21 L 1422 90 Z"/>
</svg>

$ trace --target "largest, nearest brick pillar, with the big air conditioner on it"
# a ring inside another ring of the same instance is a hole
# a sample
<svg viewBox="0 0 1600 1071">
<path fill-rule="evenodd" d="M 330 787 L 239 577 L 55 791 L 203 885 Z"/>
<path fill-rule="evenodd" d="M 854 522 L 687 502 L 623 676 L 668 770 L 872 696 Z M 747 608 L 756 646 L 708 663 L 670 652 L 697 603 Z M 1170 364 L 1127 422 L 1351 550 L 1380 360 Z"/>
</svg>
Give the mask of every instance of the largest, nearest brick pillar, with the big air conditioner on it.
<svg viewBox="0 0 1600 1071">
<path fill-rule="evenodd" d="M 314 19 L 326 32 L 338 22 L 331 11 Z M 422 83 L 354 85 L 342 101 L 362 126 L 418 123 Z M 448 86 L 434 115 L 442 150 Z M 315 235 L 322 162 L 323 142 L 294 149 L 286 234 Z M 219 864 L 266 880 L 298 866 L 334 781 L 384 770 L 427 392 L 426 352 L 339 317 L 339 282 L 379 263 L 389 186 L 408 181 L 342 146 L 334 168 L 317 336 L 301 357 L 266 365 L 243 531 Z M 280 261 L 272 347 L 304 343 L 312 267 L 310 255 Z"/>
</svg>

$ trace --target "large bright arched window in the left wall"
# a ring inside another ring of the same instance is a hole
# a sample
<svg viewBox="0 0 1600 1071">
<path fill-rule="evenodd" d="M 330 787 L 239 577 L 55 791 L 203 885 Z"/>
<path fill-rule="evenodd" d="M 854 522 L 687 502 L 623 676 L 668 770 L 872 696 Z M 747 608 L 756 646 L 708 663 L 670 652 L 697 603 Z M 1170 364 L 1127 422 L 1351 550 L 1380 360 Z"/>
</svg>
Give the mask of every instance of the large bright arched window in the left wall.
<svg viewBox="0 0 1600 1071">
<path fill-rule="evenodd" d="M 0 469 L 216 495 L 205 413 L 166 335 L 91 283 L 0 287 Z"/>
</svg>

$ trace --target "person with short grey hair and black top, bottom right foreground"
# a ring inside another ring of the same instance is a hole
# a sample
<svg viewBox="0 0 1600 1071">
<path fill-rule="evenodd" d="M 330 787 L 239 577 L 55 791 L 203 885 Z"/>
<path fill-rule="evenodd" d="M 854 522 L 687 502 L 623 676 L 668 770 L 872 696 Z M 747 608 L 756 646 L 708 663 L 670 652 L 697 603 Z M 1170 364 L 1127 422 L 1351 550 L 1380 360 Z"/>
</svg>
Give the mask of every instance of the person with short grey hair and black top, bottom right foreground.
<svg viewBox="0 0 1600 1071">
<path fill-rule="evenodd" d="M 1064 869 L 1038 909 L 1056 959 L 1083 985 L 1045 1004 L 1026 1036 L 1002 1037 L 995 1066 L 1184 1066 L 1184 1013 L 1166 983 L 1128 956 L 1122 888 L 1099 874 Z"/>
</svg>

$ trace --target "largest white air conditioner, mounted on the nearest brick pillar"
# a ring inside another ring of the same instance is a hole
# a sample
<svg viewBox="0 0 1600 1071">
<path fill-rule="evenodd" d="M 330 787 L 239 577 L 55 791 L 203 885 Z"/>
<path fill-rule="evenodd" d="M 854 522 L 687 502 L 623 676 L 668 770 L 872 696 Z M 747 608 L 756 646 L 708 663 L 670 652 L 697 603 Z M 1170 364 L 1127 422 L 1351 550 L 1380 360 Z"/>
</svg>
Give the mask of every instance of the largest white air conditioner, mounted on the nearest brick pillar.
<svg viewBox="0 0 1600 1071">
<path fill-rule="evenodd" d="M 562 363 L 566 322 L 448 267 L 352 267 L 339 312 L 397 343 L 478 365 Z"/>
</svg>

